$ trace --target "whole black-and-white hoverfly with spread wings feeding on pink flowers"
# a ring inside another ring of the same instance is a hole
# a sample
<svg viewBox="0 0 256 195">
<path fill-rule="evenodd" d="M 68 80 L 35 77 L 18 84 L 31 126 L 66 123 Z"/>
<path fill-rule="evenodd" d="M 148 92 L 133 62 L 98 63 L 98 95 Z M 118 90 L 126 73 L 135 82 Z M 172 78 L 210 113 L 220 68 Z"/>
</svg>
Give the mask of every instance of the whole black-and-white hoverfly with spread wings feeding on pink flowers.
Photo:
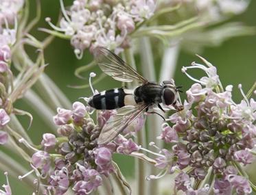
<svg viewBox="0 0 256 195">
<path fill-rule="evenodd" d="M 173 105 L 177 111 L 183 109 L 176 105 L 178 87 L 172 81 L 163 81 L 160 85 L 149 82 L 139 75 L 136 70 L 121 60 L 115 53 L 104 47 L 97 47 L 93 51 L 95 60 L 102 71 L 122 82 L 138 81 L 140 86 L 135 90 L 115 88 L 91 96 L 88 104 L 95 109 L 117 109 L 117 115 L 110 118 L 102 128 L 97 140 L 98 144 L 106 144 L 121 133 L 130 123 L 148 108 L 158 105 Z M 163 110 L 164 112 L 164 110 Z"/>
</svg>

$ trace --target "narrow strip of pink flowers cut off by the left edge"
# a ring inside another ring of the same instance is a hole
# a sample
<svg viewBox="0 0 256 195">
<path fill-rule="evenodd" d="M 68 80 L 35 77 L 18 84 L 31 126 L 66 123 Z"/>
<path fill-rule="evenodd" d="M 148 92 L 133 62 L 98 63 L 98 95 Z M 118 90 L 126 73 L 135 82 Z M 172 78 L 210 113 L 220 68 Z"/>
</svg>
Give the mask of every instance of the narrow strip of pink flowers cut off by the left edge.
<svg viewBox="0 0 256 195">
<path fill-rule="evenodd" d="M 16 19 L 18 12 L 23 7 L 23 0 L 3 0 L 0 3 L 0 129 L 2 129 L 10 121 L 10 102 L 7 99 L 6 88 L 10 86 L 9 64 L 11 57 L 10 47 L 16 40 Z M 9 26 L 14 25 L 14 29 Z M 0 144 L 5 144 L 8 140 L 8 134 L 5 131 L 0 131 Z"/>
</svg>

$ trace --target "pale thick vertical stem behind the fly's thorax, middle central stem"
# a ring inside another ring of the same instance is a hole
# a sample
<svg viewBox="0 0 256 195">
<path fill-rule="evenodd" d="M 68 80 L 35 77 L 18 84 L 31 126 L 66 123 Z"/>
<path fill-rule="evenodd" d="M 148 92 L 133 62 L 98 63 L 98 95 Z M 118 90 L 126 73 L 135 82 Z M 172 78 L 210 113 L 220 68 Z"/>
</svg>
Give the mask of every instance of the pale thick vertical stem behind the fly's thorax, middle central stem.
<svg viewBox="0 0 256 195">
<path fill-rule="evenodd" d="M 152 54 L 152 47 L 150 44 L 149 38 L 141 38 L 140 39 L 140 54 L 141 54 L 141 66 L 143 76 L 149 79 L 150 81 L 156 81 L 156 73 L 154 69 L 154 59 Z M 156 139 L 158 135 L 160 135 L 161 131 L 161 123 L 162 120 L 156 114 L 150 114 L 147 116 L 148 120 L 148 139 L 149 142 L 154 142 L 156 145 L 159 145 L 159 140 Z M 158 173 L 157 168 L 154 166 L 150 166 L 150 174 L 156 175 Z M 158 194 L 159 191 L 159 180 L 154 179 L 150 181 L 150 187 L 148 194 L 155 195 Z"/>
</svg>

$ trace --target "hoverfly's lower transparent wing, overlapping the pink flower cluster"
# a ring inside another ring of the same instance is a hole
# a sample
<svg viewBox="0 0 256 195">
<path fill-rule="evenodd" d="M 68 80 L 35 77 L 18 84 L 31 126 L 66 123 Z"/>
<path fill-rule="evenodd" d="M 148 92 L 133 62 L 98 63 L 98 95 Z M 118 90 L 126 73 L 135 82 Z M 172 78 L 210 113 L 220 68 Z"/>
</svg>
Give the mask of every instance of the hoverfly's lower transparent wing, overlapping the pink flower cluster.
<svg viewBox="0 0 256 195">
<path fill-rule="evenodd" d="M 117 110 L 117 115 L 110 118 L 102 128 L 97 144 L 106 144 L 113 140 L 121 131 L 143 113 L 148 105 L 127 105 Z"/>
</svg>

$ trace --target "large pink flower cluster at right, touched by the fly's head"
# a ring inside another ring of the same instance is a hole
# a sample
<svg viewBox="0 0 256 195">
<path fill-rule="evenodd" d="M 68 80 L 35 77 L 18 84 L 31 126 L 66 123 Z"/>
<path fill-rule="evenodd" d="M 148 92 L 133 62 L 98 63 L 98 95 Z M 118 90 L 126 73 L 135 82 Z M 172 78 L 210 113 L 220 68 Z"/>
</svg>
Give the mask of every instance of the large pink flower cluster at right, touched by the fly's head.
<svg viewBox="0 0 256 195">
<path fill-rule="evenodd" d="M 169 173 L 181 170 L 175 186 L 186 194 L 206 194 L 210 186 L 216 195 L 233 191 L 251 194 L 242 164 L 253 162 L 256 101 L 248 100 L 240 85 L 244 99 L 235 103 L 232 86 L 223 90 L 216 67 L 205 62 L 209 67 L 196 63 L 183 67 L 183 73 L 196 83 L 187 90 L 184 109 L 169 117 L 174 125 L 163 125 L 159 138 L 172 144 L 173 153 L 162 150 L 163 157 L 156 159 L 156 167 L 168 169 Z M 194 79 L 187 73 L 189 68 L 204 70 L 207 77 Z"/>
</svg>

